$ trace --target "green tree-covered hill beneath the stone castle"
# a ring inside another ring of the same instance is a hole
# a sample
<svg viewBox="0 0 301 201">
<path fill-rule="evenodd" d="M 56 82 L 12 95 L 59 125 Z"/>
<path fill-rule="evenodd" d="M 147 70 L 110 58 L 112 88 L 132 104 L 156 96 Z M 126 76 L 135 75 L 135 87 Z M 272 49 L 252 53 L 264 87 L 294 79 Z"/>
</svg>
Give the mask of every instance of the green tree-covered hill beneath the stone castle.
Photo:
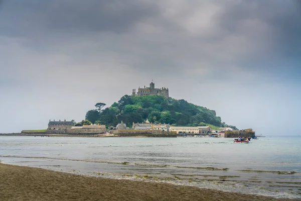
<svg viewBox="0 0 301 201">
<path fill-rule="evenodd" d="M 188 103 L 184 99 L 164 98 L 159 95 L 124 95 L 116 103 L 102 110 L 103 103 L 97 103 L 96 110 L 87 112 L 85 119 L 92 123 L 116 126 L 123 121 L 127 126 L 133 122 L 142 123 L 148 119 L 151 123 L 166 123 L 173 126 L 233 127 L 222 122 L 215 111 Z"/>
</svg>

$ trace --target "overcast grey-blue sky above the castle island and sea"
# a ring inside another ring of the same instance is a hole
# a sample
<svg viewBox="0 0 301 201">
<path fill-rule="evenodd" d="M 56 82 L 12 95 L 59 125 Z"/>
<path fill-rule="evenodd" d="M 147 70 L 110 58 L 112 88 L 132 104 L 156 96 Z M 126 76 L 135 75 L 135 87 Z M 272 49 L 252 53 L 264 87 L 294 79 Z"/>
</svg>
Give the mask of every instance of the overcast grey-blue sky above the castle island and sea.
<svg viewBox="0 0 301 201">
<path fill-rule="evenodd" d="M 299 0 L 0 0 L 0 133 L 85 118 L 133 88 L 300 135 Z"/>
</svg>

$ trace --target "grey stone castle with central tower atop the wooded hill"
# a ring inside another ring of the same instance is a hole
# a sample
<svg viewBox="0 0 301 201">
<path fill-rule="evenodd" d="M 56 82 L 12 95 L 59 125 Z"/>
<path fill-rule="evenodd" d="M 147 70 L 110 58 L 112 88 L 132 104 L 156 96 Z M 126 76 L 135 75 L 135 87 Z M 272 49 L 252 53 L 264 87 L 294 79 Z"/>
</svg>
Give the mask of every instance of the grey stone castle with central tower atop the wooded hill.
<svg viewBox="0 0 301 201">
<path fill-rule="evenodd" d="M 162 88 L 155 88 L 155 83 L 150 82 L 149 87 L 144 88 L 138 88 L 138 91 L 136 92 L 136 89 L 133 89 L 132 96 L 146 96 L 146 95 L 161 95 L 165 98 L 169 97 L 169 91 L 168 88 L 162 87 Z"/>
</svg>

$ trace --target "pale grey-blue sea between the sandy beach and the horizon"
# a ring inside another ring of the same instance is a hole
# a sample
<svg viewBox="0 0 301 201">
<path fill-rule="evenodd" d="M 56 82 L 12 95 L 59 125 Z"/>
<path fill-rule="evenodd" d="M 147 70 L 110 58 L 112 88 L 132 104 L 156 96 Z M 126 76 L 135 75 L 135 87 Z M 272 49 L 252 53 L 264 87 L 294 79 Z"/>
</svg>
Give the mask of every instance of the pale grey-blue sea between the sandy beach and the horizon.
<svg viewBox="0 0 301 201">
<path fill-rule="evenodd" d="M 0 136 L 0 161 L 113 179 L 277 198 L 301 197 L 301 136 L 232 138 Z"/>
</svg>

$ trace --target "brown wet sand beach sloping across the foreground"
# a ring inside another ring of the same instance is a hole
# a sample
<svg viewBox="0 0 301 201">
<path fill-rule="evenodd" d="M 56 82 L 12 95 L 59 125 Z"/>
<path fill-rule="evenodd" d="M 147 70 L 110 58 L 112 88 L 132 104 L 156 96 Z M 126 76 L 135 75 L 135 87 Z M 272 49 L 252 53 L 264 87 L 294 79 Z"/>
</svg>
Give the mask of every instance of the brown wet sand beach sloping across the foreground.
<svg viewBox="0 0 301 201">
<path fill-rule="evenodd" d="M 0 200 L 292 200 L 0 163 Z M 301 199 L 294 199 L 301 200 Z"/>
</svg>

